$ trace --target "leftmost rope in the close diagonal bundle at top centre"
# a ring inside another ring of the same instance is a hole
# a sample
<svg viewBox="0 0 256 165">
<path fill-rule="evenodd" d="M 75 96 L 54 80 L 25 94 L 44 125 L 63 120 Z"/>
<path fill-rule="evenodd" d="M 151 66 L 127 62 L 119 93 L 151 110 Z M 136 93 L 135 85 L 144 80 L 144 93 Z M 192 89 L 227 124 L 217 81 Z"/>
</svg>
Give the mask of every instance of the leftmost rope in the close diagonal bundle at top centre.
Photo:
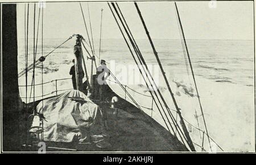
<svg viewBox="0 0 256 165">
<path fill-rule="evenodd" d="M 109 3 L 108 3 L 108 6 L 109 6 L 109 9 L 110 9 L 110 11 L 112 12 L 112 14 L 113 14 L 113 16 L 114 16 L 115 22 L 117 22 L 117 26 L 118 26 L 118 28 L 119 28 L 119 30 L 120 30 L 122 36 L 123 36 L 123 39 L 125 40 L 125 42 L 126 42 L 128 48 L 129 48 L 129 50 L 130 50 L 130 53 L 131 53 L 131 55 L 133 56 L 134 61 L 135 61 L 135 63 L 136 63 L 137 66 L 138 66 L 138 62 L 137 62 L 137 60 L 135 60 L 135 57 L 134 57 L 133 52 L 131 51 L 130 45 L 128 44 L 128 42 L 127 42 L 127 40 L 126 40 L 126 37 L 125 37 L 125 35 L 123 34 L 122 29 L 121 29 L 121 27 L 119 26 L 119 23 L 118 23 L 118 21 L 117 21 L 117 18 L 115 17 L 114 12 L 113 12 L 113 10 L 112 10 L 112 7 L 110 7 Z M 139 69 L 140 73 L 142 74 L 141 69 L 140 69 L 139 67 L 138 67 L 138 69 Z M 146 82 L 146 79 L 144 78 L 143 74 L 142 74 L 142 77 L 143 77 L 144 81 Z M 147 82 L 146 82 L 146 84 L 147 84 Z M 148 87 L 148 84 L 147 84 L 147 87 Z M 152 94 L 151 94 L 151 95 L 152 95 Z M 152 97 L 154 97 L 154 96 L 152 95 Z M 154 101 L 155 101 L 155 99 L 154 99 Z M 158 104 L 156 103 L 156 101 L 155 101 L 155 104 L 156 104 L 156 107 L 158 108 L 158 111 L 159 111 L 160 115 L 162 116 L 162 119 L 163 119 L 163 121 L 164 121 L 164 124 L 166 124 L 166 127 L 167 127 L 168 131 L 171 132 L 171 130 L 170 130 L 168 124 L 167 124 L 167 121 L 164 119 L 163 113 L 160 111 L 160 108 L 159 108 Z M 169 124 L 170 124 L 170 123 L 169 123 Z M 170 125 L 171 125 L 171 124 L 170 124 Z"/>
</svg>

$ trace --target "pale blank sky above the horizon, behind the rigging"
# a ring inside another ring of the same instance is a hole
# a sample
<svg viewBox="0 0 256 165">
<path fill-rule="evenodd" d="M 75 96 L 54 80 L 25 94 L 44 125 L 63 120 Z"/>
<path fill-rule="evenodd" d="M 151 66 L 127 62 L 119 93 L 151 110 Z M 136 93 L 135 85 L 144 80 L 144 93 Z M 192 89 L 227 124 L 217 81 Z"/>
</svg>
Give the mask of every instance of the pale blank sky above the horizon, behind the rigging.
<svg viewBox="0 0 256 165">
<path fill-rule="evenodd" d="M 82 2 L 89 28 L 88 6 L 93 37 L 121 39 L 118 26 L 106 2 Z M 133 2 L 118 2 L 135 39 L 147 39 Z M 142 16 L 153 39 L 180 39 L 174 2 L 138 2 Z M 187 40 L 253 40 L 253 1 L 177 2 L 184 35 Z M 36 5 L 36 23 L 39 7 Z M 17 7 L 18 37 L 24 37 L 24 3 Z M 30 3 L 29 34 L 33 35 L 34 4 Z M 41 19 L 41 18 L 40 18 Z M 41 22 L 41 20 L 40 20 Z M 40 23 L 41 26 L 41 23 Z M 79 2 L 46 2 L 44 38 L 67 38 L 73 33 L 86 36 Z M 40 27 L 41 28 L 41 27 Z M 39 33 L 42 29 L 39 28 Z"/>
</svg>

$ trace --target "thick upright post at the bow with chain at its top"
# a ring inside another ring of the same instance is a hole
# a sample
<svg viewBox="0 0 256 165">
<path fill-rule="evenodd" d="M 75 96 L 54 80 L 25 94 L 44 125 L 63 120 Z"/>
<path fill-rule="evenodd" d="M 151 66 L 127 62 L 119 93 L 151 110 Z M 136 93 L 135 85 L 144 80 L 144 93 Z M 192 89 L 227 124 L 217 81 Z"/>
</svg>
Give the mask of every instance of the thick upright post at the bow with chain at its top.
<svg viewBox="0 0 256 165">
<path fill-rule="evenodd" d="M 81 40 L 82 36 L 76 35 L 76 45 L 74 46 L 74 54 L 76 57 L 75 63 L 75 71 L 76 71 L 76 88 L 79 91 L 83 91 L 82 89 L 82 78 L 83 78 L 83 70 L 82 70 L 82 48 L 81 48 Z"/>
</svg>

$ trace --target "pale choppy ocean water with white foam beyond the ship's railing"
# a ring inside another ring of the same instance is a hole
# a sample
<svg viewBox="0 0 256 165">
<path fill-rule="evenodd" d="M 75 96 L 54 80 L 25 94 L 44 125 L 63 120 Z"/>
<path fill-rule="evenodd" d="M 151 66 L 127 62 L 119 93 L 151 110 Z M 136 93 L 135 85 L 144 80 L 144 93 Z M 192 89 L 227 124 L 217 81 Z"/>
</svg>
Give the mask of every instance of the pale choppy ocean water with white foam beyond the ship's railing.
<svg viewBox="0 0 256 165">
<path fill-rule="evenodd" d="M 68 38 L 68 37 L 67 37 Z M 38 43 L 37 58 L 51 52 L 66 39 L 44 39 L 43 53 L 40 41 Z M 195 93 L 195 86 L 191 81 L 191 74 L 188 75 L 183 49 L 180 40 L 162 40 L 153 39 L 156 51 L 160 61 L 163 64 L 164 71 L 168 77 L 177 104 L 181 113 L 190 124 L 187 128 L 191 131 L 191 138 L 196 144 L 202 143 L 203 134 L 193 129 L 192 125 L 199 126 L 205 130 L 202 114 Z M 33 45 L 29 41 L 28 64 L 32 64 Z M 98 40 L 94 40 L 94 50 L 98 56 Z M 138 46 L 148 65 L 158 68 L 154 53 L 148 40 L 137 40 Z M 42 94 L 47 96 L 56 95 L 72 88 L 70 79 L 56 81 L 55 79 L 70 78 L 69 69 L 72 66 L 73 45 L 75 39 L 69 40 L 66 44 L 56 49 L 43 62 L 43 82 L 49 82 L 35 88 L 37 99 Z M 187 40 L 188 50 L 191 57 L 193 70 L 196 77 L 197 87 L 199 89 L 200 99 L 204 109 L 204 116 L 208 126 L 209 136 L 214 139 L 224 151 L 254 151 L 254 46 L 250 40 Z M 84 54 L 86 54 L 85 50 Z M 122 75 L 121 82 L 144 95 L 150 95 L 143 83 L 127 83 L 131 78 L 128 67 L 134 65 L 133 58 L 125 41 L 122 39 L 104 39 L 102 40 L 101 59 L 107 61 L 107 65 L 113 66 L 114 74 Z M 98 58 L 96 58 L 98 64 Z M 114 65 L 113 65 L 114 64 Z M 22 71 L 24 64 L 24 41 L 18 41 L 18 69 Z M 86 68 L 90 73 L 90 60 L 86 60 Z M 120 74 L 120 69 L 126 69 L 126 74 Z M 138 71 L 135 69 L 135 71 Z M 95 72 L 95 69 L 94 69 Z M 42 83 L 42 65 L 35 69 L 35 83 Z M 159 88 L 164 95 L 170 108 L 174 108 L 170 93 L 167 90 L 160 70 L 154 72 L 159 83 Z M 31 84 L 32 71 L 28 74 L 28 84 Z M 112 79 L 111 77 L 109 79 Z M 189 81 L 190 79 L 190 81 Z M 112 79 L 113 80 L 113 79 Z M 110 82 L 109 82 L 110 83 Z M 177 86 L 177 83 L 183 86 Z M 19 78 L 19 85 L 25 84 L 25 77 Z M 191 86 L 192 84 L 192 86 Z M 110 87 L 118 95 L 126 98 L 121 88 L 114 83 Z M 192 88 L 190 93 L 186 90 Z M 20 96 L 24 99 L 25 88 L 20 87 Z M 31 88 L 28 88 L 28 96 Z M 147 96 L 139 95 L 132 90 L 130 94 L 144 107 L 151 107 L 152 99 Z M 31 96 L 34 94 L 31 92 Z M 47 97 L 46 96 L 46 97 Z M 28 99 L 27 101 L 32 101 Z M 164 125 L 155 105 L 153 111 L 143 108 L 143 111 L 152 116 L 160 124 Z M 179 120 L 179 119 L 177 119 Z M 200 147 L 196 147 L 201 151 Z M 204 149 L 209 150 L 207 138 L 204 139 Z M 216 149 L 216 151 L 220 151 Z"/>
</svg>

